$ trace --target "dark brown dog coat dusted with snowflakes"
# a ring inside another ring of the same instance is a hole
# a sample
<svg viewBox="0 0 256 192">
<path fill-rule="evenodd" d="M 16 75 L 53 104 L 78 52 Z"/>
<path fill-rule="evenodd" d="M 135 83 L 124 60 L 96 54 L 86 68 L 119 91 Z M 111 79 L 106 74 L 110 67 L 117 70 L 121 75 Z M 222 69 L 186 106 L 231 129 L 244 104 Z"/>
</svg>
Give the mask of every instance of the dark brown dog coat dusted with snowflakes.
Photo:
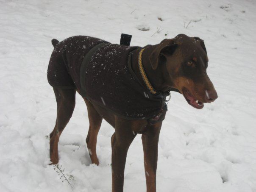
<svg viewBox="0 0 256 192">
<path fill-rule="evenodd" d="M 53 50 L 48 81 L 56 88 L 78 89 L 83 97 L 125 119 L 152 119 L 163 114 L 163 120 L 165 96 L 152 95 L 131 68 L 131 54 L 136 49 L 141 47 L 87 36 L 68 38 Z"/>
</svg>

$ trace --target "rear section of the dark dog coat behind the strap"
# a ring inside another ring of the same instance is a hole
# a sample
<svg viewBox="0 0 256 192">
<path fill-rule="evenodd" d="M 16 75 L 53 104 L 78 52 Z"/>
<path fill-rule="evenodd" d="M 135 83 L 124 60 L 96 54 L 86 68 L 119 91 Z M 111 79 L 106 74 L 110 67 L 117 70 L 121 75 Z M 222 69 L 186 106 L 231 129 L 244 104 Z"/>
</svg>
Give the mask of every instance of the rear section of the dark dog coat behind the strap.
<svg viewBox="0 0 256 192">
<path fill-rule="evenodd" d="M 84 56 L 103 42 L 106 41 L 89 36 L 72 36 L 61 42 L 53 39 L 54 50 L 47 70 L 49 84 L 56 88 L 79 88 L 79 70 Z"/>
</svg>

